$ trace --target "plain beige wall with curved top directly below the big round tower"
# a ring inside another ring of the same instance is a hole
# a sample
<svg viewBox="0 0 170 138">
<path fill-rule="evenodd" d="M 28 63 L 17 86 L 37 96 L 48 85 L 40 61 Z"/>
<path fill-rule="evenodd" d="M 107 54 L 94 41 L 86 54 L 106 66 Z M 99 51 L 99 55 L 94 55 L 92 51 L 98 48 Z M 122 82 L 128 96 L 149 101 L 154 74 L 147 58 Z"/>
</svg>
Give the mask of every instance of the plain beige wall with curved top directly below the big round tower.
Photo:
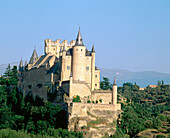
<svg viewBox="0 0 170 138">
<path fill-rule="evenodd" d="M 73 81 L 69 97 L 72 98 L 74 95 L 79 95 L 80 97 L 89 96 L 91 95 L 90 87 L 85 82 Z"/>
</svg>

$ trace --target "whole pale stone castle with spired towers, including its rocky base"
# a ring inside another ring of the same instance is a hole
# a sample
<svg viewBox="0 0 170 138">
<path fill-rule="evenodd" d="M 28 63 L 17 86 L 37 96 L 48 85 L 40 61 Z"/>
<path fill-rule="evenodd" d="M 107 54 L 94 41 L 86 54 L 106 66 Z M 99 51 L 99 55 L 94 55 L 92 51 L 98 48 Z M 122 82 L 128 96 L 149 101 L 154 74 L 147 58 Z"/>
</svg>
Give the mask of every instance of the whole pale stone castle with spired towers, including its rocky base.
<svg viewBox="0 0 170 138">
<path fill-rule="evenodd" d="M 95 66 L 95 54 L 94 46 L 91 51 L 86 49 L 80 29 L 77 39 L 70 43 L 46 39 L 44 55 L 38 57 L 34 49 L 28 64 L 23 66 L 20 61 L 18 90 L 24 96 L 39 96 L 44 101 L 52 95 L 52 101 L 68 112 L 71 131 L 88 130 L 92 137 L 100 137 L 105 131 L 111 134 L 121 111 L 117 85 L 114 81 L 113 90 L 100 90 L 100 70 Z M 77 96 L 81 102 L 73 102 Z M 91 124 L 94 120 L 100 120 L 102 125 Z"/>
</svg>

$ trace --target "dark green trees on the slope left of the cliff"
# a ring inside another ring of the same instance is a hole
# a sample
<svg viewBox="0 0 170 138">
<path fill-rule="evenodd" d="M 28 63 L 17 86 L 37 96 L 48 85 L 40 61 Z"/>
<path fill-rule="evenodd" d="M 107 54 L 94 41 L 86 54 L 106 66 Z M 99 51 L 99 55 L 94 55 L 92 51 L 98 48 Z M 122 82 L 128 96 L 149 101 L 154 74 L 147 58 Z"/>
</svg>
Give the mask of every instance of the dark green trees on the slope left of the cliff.
<svg viewBox="0 0 170 138">
<path fill-rule="evenodd" d="M 40 97 L 23 97 L 17 90 L 17 67 L 9 65 L 0 77 L 0 137 L 83 137 L 66 129 L 67 113 Z"/>
</svg>

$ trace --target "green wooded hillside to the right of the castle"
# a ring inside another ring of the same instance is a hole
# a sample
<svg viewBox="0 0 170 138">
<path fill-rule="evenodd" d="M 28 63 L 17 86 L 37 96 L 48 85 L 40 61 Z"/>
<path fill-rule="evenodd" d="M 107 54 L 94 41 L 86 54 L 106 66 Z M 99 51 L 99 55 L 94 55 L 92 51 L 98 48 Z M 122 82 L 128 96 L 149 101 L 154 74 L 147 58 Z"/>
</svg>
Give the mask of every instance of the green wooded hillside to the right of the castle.
<svg viewBox="0 0 170 138">
<path fill-rule="evenodd" d="M 105 80 L 106 82 L 102 83 L 108 84 L 109 86 L 105 88 L 109 89 L 111 87 L 109 80 Z M 143 130 L 153 128 L 165 134 L 169 133 L 170 85 L 158 81 L 156 88 L 148 86 L 145 90 L 139 90 L 136 83 L 128 82 L 124 83 L 123 87 L 118 87 L 118 94 L 118 102 L 121 103 L 123 112 L 121 123 L 112 137 L 124 134 L 134 137 Z M 127 100 L 121 101 L 121 97 Z"/>
</svg>

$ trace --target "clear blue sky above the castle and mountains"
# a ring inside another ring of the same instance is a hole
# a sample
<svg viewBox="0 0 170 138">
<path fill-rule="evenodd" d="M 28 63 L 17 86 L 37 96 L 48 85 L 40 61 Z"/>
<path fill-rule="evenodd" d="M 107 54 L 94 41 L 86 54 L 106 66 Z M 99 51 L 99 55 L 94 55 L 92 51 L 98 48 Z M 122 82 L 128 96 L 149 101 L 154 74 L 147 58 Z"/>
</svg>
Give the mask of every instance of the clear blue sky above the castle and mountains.
<svg viewBox="0 0 170 138">
<path fill-rule="evenodd" d="M 0 0 L 0 64 L 74 40 L 79 26 L 99 68 L 170 73 L 170 0 Z"/>
</svg>

